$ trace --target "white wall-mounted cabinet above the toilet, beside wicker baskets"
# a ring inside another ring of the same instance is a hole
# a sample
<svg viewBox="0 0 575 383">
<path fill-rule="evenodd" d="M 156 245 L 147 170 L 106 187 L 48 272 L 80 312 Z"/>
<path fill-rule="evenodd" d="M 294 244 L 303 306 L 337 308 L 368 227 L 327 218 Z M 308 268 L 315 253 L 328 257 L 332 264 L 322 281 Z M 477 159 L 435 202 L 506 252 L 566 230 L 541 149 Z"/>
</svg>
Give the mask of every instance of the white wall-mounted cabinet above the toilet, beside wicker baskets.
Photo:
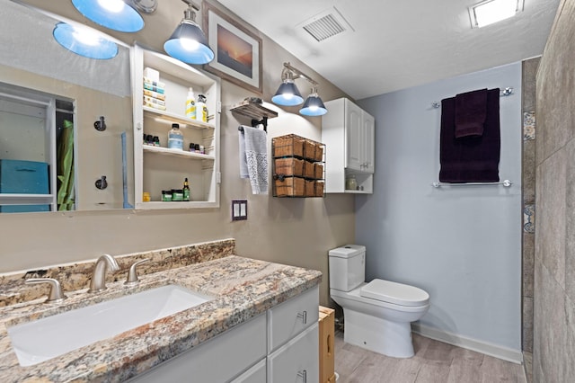
<svg viewBox="0 0 575 383">
<path fill-rule="evenodd" d="M 322 116 L 325 154 L 325 192 L 372 193 L 375 172 L 376 120 L 349 99 L 325 102 Z M 346 187 L 355 177 L 357 188 Z"/>
</svg>

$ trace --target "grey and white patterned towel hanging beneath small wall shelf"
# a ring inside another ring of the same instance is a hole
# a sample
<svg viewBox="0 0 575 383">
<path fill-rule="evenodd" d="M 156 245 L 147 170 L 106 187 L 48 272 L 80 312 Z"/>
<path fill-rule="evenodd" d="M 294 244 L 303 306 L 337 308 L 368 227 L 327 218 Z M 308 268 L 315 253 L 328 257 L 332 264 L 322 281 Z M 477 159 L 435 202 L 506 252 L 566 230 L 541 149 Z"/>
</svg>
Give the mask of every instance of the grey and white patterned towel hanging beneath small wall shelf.
<svg viewBox="0 0 575 383">
<path fill-rule="evenodd" d="M 264 130 L 239 130 L 240 178 L 249 178 L 253 194 L 268 194 L 268 137 Z"/>
</svg>

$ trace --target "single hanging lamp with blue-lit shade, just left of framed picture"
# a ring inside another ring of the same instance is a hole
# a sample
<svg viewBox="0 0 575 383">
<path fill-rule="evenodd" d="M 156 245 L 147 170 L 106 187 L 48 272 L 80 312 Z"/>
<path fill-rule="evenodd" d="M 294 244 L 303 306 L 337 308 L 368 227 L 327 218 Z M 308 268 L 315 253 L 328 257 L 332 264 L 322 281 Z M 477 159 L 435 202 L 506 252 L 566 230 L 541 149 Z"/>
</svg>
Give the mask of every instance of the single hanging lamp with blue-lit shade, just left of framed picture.
<svg viewBox="0 0 575 383">
<path fill-rule="evenodd" d="M 187 64 L 208 64 L 214 59 L 214 51 L 209 48 L 208 39 L 196 22 L 199 5 L 193 4 L 191 0 L 181 1 L 188 4 L 188 9 L 183 12 L 184 17 L 170 39 L 165 41 L 164 50 Z"/>
</svg>

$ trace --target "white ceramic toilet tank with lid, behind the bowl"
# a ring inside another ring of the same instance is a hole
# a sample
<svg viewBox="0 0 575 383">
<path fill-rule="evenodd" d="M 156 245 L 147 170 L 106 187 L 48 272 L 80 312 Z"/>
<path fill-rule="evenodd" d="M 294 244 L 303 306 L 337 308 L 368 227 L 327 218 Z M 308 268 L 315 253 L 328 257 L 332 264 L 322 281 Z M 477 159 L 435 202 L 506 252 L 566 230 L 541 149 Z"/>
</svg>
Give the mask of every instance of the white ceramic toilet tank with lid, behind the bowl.
<svg viewBox="0 0 575 383">
<path fill-rule="evenodd" d="M 345 245 L 330 250 L 330 289 L 349 291 L 366 280 L 366 246 Z"/>
</svg>

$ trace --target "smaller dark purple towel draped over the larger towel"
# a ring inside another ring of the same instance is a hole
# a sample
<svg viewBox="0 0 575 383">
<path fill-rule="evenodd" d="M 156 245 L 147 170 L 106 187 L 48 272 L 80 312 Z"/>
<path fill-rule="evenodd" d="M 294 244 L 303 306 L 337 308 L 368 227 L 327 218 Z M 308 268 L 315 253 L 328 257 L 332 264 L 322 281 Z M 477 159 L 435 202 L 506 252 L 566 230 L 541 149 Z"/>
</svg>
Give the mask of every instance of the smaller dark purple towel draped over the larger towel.
<svg viewBox="0 0 575 383">
<path fill-rule="evenodd" d="M 487 117 L 487 89 L 456 95 L 456 138 L 481 136 Z"/>
</svg>

